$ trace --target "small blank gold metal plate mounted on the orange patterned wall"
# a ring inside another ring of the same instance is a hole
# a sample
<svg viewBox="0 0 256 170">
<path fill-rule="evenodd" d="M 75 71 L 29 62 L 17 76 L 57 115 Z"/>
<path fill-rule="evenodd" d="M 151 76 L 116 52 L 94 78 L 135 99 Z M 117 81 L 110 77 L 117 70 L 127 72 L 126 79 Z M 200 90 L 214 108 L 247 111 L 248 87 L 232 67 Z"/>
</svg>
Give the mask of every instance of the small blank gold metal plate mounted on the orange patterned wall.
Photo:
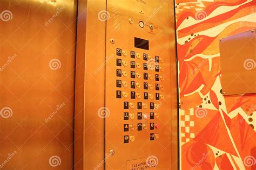
<svg viewBox="0 0 256 170">
<path fill-rule="evenodd" d="M 221 39 L 219 45 L 223 94 L 256 93 L 255 30 Z"/>
</svg>

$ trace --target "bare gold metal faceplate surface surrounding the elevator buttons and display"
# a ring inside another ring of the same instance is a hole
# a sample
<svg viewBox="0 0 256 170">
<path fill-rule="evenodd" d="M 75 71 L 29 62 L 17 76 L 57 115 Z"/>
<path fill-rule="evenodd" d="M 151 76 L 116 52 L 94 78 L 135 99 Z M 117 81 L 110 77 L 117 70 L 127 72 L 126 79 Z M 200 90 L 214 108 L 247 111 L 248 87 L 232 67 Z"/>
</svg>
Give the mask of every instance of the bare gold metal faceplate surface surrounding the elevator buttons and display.
<svg viewBox="0 0 256 170">
<path fill-rule="evenodd" d="M 130 164 L 129 162 L 127 164 L 127 161 L 143 158 L 157 162 L 156 167 L 148 165 L 147 168 L 150 169 L 177 168 L 178 146 L 172 141 L 177 140 L 177 129 L 175 129 L 177 128 L 176 51 L 173 21 L 172 25 L 169 24 L 173 19 L 169 18 L 169 12 L 174 12 L 173 2 L 168 2 L 107 1 L 109 19 L 106 25 L 106 58 L 111 59 L 106 62 L 105 106 L 109 115 L 105 118 L 105 152 L 110 154 L 114 152 L 114 154 L 106 159 L 106 169 L 129 169 L 127 165 Z M 140 21 L 145 23 L 144 28 L 139 26 Z M 150 25 L 153 25 L 153 29 Z M 135 48 L 134 37 L 149 40 L 149 51 Z M 117 55 L 117 48 L 122 49 L 122 56 Z M 140 58 L 137 56 L 134 59 L 131 58 L 131 51 L 138 53 Z M 144 53 L 151 56 L 152 60 L 143 60 Z M 159 72 L 149 67 L 148 70 L 144 70 L 144 63 L 157 65 L 154 62 L 155 56 L 160 58 Z M 117 59 L 122 59 L 122 66 L 117 66 Z M 127 66 L 123 63 L 124 61 Z M 136 62 L 136 68 L 130 67 L 131 61 Z M 137 64 L 141 67 L 138 68 Z M 117 69 L 122 69 L 122 77 L 117 77 Z M 131 78 L 131 71 L 139 73 L 141 77 L 138 78 L 136 75 L 135 79 Z M 127 76 L 123 72 L 126 72 Z M 144 73 L 151 75 L 152 79 L 144 80 Z M 163 77 L 163 80 L 156 81 L 156 74 Z M 117 80 L 122 80 L 122 87 L 117 87 Z M 140 88 L 137 84 L 135 89 L 131 88 L 131 81 L 139 83 Z M 124 82 L 127 87 L 123 84 Z M 144 89 L 144 82 L 151 84 L 153 89 Z M 163 86 L 163 90 L 156 90 L 156 83 Z M 117 98 L 117 90 L 122 91 L 122 98 Z M 141 98 L 136 96 L 136 99 L 131 99 L 131 91 L 140 94 Z M 152 99 L 150 97 L 147 100 L 144 99 L 145 92 L 149 96 L 151 94 Z M 156 93 L 163 95 L 164 99 L 156 100 Z M 133 104 L 134 108 L 129 105 L 129 109 L 124 109 L 124 102 Z M 137 109 L 138 102 L 146 104 L 147 108 Z M 150 109 L 150 102 L 154 103 L 154 109 Z M 124 112 L 134 114 L 134 118 L 129 117 L 129 120 L 124 120 Z M 138 112 L 147 116 L 150 112 L 154 112 L 159 115 L 159 118 L 138 119 Z M 138 131 L 139 123 L 145 124 L 147 129 Z M 154 123 L 154 130 L 150 130 L 151 123 Z M 129 124 L 128 132 L 124 132 L 125 124 Z M 131 125 L 134 130 L 130 127 Z M 156 125 L 160 125 L 160 128 L 156 129 Z M 172 132 L 175 134 L 173 135 Z M 154 140 L 150 140 L 151 133 L 158 134 L 159 138 L 156 139 L 154 136 Z M 129 136 L 129 143 L 124 143 L 124 136 Z M 176 148 L 174 152 L 172 148 Z"/>
</svg>

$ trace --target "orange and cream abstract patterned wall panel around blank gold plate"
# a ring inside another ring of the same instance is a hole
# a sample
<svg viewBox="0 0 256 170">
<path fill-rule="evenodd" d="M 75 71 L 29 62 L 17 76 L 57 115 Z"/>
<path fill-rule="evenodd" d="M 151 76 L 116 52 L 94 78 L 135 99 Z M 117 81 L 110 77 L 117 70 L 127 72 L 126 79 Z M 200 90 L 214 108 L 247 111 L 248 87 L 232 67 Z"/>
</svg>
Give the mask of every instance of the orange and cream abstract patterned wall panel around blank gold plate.
<svg viewBox="0 0 256 170">
<path fill-rule="evenodd" d="M 256 94 L 223 96 L 219 39 L 255 29 L 256 1 L 178 0 L 176 22 L 181 169 L 255 170 Z"/>
</svg>

